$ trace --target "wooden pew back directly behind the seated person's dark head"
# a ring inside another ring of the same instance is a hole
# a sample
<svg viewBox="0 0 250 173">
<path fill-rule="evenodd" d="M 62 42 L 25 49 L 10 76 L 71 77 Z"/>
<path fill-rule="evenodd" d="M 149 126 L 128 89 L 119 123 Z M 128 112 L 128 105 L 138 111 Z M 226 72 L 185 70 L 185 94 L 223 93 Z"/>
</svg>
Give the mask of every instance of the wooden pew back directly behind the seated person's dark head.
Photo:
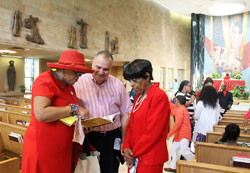
<svg viewBox="0 0 250 173">
<path fill-rule="evenodd" d="M 206 141 L 208 143 L 214 143 L 218 141 L 223 135 L 223 132 L 207 132 Z M 250 135 L 240 134 L 237 139 L 238 142 L 250 143 Z"/>
</svg>

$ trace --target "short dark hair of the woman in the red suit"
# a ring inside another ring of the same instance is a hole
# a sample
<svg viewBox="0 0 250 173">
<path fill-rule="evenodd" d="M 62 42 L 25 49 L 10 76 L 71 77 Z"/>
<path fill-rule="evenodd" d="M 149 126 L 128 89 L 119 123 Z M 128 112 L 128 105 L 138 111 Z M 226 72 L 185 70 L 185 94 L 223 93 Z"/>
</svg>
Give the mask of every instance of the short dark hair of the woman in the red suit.
<svg viewBox="0 0 250 173">
<path fill-rule="evenodd" d="M 129 63 L 123 72 L 123 77 L 126 80 L 144 78 L 147 79 L 148 76 L 146 72 L 149 73 L 150 80 L 153 80 L 153 68 L 151 62 L 146 59 L 136 59 L 133 62 Z"/>
</svg>

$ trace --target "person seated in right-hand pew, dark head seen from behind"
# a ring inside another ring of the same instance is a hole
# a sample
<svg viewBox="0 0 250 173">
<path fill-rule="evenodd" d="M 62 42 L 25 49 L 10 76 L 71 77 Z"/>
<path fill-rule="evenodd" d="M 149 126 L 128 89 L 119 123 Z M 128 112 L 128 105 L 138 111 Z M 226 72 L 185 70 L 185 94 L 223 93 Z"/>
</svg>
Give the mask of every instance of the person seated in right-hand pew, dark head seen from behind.
<svg viewBox="0 0 250 173">
<path fill-rule="evenodd" d="M 237 124 L 228 124 L 222 138 L 215 142 L 217 144 L 237 145 L 237 138 L 240 136 L 240 128 Z"/>
</svg>

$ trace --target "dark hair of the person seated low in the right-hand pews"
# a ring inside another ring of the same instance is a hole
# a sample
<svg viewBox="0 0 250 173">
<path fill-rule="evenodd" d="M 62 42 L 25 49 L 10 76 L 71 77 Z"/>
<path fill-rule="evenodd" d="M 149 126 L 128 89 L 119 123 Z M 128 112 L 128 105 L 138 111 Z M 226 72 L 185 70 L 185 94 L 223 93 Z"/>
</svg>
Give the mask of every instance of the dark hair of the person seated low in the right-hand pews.
<svg viewBox="0 0 250 173">
<path fill-rule="evenodd" d="M 225 133 L 222 136 L 221 142 L 236 141 L 240 135 L 240 128 L 237 124 L 228 124 L 225 128 Z"/>
</svg>

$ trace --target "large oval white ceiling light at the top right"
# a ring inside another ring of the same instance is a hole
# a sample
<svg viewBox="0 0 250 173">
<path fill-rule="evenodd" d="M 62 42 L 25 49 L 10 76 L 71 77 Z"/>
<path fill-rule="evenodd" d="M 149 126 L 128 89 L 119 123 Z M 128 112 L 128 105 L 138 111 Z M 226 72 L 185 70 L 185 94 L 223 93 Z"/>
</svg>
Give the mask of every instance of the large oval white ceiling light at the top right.
<svg viewBox="0 0 250 173">
<path fill-rule="evenodd" d="M 214 16 L 225 16 L 242 13 L 245 7 L 242 3 L 218 4 L 212 7 L 209 12 Z"/>
</svg>

